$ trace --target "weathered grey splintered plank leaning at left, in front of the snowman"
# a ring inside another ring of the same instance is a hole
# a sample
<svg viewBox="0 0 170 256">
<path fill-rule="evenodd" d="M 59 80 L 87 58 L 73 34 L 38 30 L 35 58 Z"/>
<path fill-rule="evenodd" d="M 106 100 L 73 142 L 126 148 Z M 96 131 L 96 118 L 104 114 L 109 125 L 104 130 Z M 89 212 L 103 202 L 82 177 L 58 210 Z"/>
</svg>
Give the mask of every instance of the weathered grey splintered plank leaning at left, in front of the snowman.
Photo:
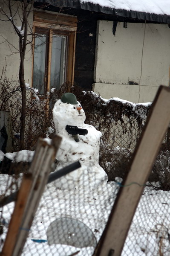
<svg viewBox="0 0 170 256">
<path fill-rule="evenodd" d="M 22 253 L 41 195 L 47 183 L 49 172 L 51 172 L 51 165 L 55 160 L 56 153 L 61 143 L 61 137 L 56 135 L 53 138 L 53 145 L 47 145 L 47 143 L 44 141 L 43 143 L 44 150 L 40 154 L 41 160 L 39 163 L 36 162 L 36 168 L 38 169 L 37 172 L 39 175 L 36 179 L 34 189 L 32 190 L 32 193 L 30 193 L 29 200 L 27 201 L 26 211 L 23 215 L 20 232 L 17 236 L 17 241 L 12 256 L 20 256 Z M 35 169 L 35 166 L 32 166 L 31 168 Z"/>
</svg>

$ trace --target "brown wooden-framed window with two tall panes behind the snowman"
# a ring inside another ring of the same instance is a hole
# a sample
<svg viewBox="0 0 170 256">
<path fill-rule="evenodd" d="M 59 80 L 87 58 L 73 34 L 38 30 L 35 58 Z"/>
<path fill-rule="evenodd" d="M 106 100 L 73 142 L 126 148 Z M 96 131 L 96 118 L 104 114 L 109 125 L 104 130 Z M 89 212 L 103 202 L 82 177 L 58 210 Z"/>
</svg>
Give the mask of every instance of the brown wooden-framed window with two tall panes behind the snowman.
<svg viewBox="0 0 170 256">
<path fill-rule="evenodd" d="M 65 81 L 73 82 L 77 18 L 46 12 L 34 13 L 32 86 L 40 94 Z"/>
</svg>

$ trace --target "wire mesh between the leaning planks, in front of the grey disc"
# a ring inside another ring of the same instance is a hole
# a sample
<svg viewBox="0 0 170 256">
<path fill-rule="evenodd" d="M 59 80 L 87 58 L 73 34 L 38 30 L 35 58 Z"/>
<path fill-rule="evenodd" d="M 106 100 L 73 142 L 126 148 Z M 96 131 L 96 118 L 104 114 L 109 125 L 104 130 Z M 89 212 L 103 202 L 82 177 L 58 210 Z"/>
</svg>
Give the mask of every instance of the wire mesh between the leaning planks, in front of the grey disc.
<svg viewBox="0 0 170 256">
<path fill-rule="evenodd" d="M 37 243 L 31 239 L 47 240 L 38 245 L 42 247 L 40 255 L 71 255 L 78 251 L 78 255 L 92 255 L 96 239 L 99 239 L 104 230 L 117 188 L 106 184 L 106 181 L 98 181 L 97 184 L 96 180 L 96 185 L 91 185 L 87 177 L 84 177 L 84 185 L 81 187 L 74 181 L 71 183 L 69 180 L 69 184 L 68 189 L 64 190 L 58 188 L 58 182 L 57 185 L 53 182 L 46 186 L 23 255 L 32 255 L 30 250 L 37 247 Z M 75 190 L 72 189 L 74 185 Z M 71 226 L 67 221 L 69 218 L 72 218 Z M 75 220 L 77 225 L 73 226 L 72 220 Z M 47 230 L 52 221 L 59 221 L 61 226 L 58 227 L 56 224 L 50 230 L 51 236 L 48 237 Z M 78 221 L 81 221 L 82 225 Z M 52 244 L 48 245 L 50 239 Z M 63 244 L 53 244 L 53 240 L 58 243 L 61 241 Z"/>
</svg>

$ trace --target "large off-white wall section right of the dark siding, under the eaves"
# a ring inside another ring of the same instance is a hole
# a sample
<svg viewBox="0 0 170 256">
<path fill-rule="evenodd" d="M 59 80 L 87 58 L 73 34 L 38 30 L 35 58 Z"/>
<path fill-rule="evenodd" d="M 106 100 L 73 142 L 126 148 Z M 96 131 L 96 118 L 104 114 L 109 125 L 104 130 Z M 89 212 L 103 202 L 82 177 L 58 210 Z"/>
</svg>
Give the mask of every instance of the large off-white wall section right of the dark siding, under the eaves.
<svg viewBox="0 0 170 256">
<path fill-rule="evenodd" d="M 153 101 L 158 86 L 169 85 L 170 28 L 118 22 L 114 36 L 112 26 L 98 21 L 94 91 L 105 99 Z"/>
</svg>

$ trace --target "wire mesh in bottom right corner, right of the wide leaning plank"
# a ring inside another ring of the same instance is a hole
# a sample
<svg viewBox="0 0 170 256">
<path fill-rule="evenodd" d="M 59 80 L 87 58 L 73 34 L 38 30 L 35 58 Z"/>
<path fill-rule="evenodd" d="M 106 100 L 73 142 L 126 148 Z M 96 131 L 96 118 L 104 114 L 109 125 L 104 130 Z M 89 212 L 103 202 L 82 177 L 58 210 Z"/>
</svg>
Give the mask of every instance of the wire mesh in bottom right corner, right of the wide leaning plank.
<svg viewBox="0 0 170 256">
<path fill-rule="evenodd" d="M 146 187 L 127 235 L 122 256 L 170 254 L 170 192 Z"/>
</svg>

